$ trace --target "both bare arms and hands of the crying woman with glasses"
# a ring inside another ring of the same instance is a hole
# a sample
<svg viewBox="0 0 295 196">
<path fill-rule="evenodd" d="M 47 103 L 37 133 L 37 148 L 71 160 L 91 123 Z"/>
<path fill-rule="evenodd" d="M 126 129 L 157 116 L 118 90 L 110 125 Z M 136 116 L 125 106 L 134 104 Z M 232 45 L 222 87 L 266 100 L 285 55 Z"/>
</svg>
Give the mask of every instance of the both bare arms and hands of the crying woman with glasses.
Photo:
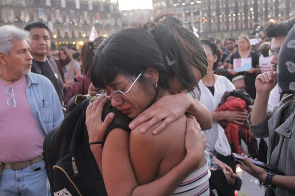
<svg viewBox="0 0 295 196">
<path fill-rule="evenodd" d="M 110 113 L 104 122 L 101 120 L 106 100 L 107 98 L 101 102 L 96 100 L 87 107 L 86 125 L 89 142 L 101 141 L 113 119 L 111 118 L 113 113 Z M 99 144 L 91 145 L 91 151 L 103 175 L 108 195 L 151 195 L 151 191 L 159 195 L 170 195 L 171 191 L 173 192 L 194 169 L 198 168 L 196 160 L 199 160 L 200 154 L 204 154 L 206 148 L 206 140 L 204 134 L 201 133 L 200 126 L 196 121 L 191 121 L 192 123 L 187 125 L 186 130 L 186 157 L 159 180 L 146 185 L 138 186 L 136 181 L 129 157 L 130 135 L 125 130 L 120 128 L 111 130 L 105 140 L 103 150 Z M 192 127 L 194 122 L 196 125 Z"/>
</svg>

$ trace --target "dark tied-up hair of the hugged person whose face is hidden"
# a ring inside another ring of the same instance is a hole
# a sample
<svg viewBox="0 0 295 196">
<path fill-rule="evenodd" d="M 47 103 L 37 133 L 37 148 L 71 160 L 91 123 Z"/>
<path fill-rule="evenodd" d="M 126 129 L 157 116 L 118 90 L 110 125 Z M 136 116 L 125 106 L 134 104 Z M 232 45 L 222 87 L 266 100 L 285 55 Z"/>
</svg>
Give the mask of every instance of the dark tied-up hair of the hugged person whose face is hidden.
<svg viewBox="0 0 295 196">
<path fill-rule="evenodd" d="M 182 22 L 175 13 L 158 15 L 153 22 L 144 25 L 146 30 L 152 31 L 155 40 L 165 56 L 175 58 L 176 63 L 168 66 L 171 78 L 176 76 L 183 88 L 192 91 L 195 98 L 199 98 L 200 91 L 198 81 L 193 74 L 191 66 L 196 67 L 202 74 L 207 75 L 208 61 L 206 53 L 199 38 L 188 28 L 182 26 Z M 169 32 L 169 36 L 165 35 Z M 196 90 L 195 90 L 196 89 Z"/>
</svg>

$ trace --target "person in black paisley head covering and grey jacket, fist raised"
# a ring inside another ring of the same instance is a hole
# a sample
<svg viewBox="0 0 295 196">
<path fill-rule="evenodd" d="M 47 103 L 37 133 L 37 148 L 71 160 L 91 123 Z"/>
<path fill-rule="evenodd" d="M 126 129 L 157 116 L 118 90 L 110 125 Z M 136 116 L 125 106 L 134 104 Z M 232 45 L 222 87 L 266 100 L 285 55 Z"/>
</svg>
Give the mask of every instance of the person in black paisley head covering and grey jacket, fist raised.
<svg viewBox="0 0 295 196">
<path fill-rule="evenodd" d="M 277 82 L 284 95 L 278 106 L 267 112 L 269 92 Z M 280 49 L 278 72 L 258 75 L 255 86 L 257 96 L 248 116 L 251 133 L 254 137 L 269 136 L 267 162 L 285 175 L 267 172 L 247 158 L 243 158 L 241 168 L 266 184 L 267 196 L 295 195 L 295 26 Z"/>
</svg>

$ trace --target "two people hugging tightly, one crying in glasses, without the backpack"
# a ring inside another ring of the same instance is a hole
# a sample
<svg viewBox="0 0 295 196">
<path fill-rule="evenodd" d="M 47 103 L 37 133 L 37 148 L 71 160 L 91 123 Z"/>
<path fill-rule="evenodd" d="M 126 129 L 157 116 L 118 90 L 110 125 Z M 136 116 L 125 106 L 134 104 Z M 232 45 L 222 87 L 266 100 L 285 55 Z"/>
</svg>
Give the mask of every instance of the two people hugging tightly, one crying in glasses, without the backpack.
<svg viewBox="0 0 295 196">
<path fill-rule="evenodd" d="M 209 195 L 201 127 L 212 119 L 194 99 L 208 62 L 181 26 L 161 15 L 97 49 L 91 78 L 104 91 L 89 104 L 86 125 L 108 195 Z"/>
</svg>

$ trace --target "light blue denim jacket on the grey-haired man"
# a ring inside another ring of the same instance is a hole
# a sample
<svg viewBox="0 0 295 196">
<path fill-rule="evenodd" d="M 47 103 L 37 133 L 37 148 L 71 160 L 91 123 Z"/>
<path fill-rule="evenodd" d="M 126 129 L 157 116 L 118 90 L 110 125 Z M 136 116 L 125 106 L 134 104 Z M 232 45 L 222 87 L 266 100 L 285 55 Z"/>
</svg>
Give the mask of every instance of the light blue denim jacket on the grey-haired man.
<svg viewBox="0 0 295 196">
<path fill-rule="evenodd" d="M 48 78 L 36 73 L 26 75 L 27 99 L 41 133 L 45 135 L 62 122 L 64 115 L 53 84 Z"/>
</svg>

